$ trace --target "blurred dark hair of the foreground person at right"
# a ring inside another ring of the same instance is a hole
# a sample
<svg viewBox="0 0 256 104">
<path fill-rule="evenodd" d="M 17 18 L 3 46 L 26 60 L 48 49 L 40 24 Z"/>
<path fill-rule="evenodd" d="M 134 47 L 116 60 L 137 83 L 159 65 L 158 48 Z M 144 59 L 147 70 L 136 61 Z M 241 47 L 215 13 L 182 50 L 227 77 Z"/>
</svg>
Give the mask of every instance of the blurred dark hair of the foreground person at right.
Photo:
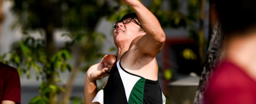
<svg viewBox="0 0 256 104">
<path fill-rule="evenodd" d="M 225 35 L 256 29 L 256 0 L 215 0 Z"/>
</svg>

